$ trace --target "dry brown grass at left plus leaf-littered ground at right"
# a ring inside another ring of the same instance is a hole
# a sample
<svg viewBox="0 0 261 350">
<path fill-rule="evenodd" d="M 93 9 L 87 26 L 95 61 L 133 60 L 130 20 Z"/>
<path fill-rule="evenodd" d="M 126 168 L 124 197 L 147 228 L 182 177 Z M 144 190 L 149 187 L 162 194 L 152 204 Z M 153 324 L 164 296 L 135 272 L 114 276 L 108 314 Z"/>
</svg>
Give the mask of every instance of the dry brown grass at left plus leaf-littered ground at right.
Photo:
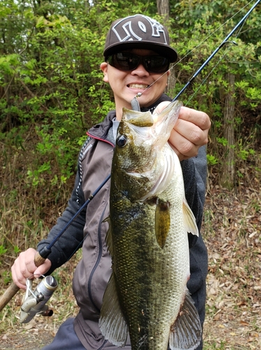
<svg viewBox="0 0 261 350">
<path fill-rule="evenodd" d="M 58 199 L 46 184 L 36 190 L 27 179 L 24 151 L 3 144 L 0 148 L 4 149 L 0 153 L 0 246 L 7 249 L 6 253 L 0 250 L 1 294 L 10 282 L 17 251 L 36 246 L 47 235 L 66 206 L 72 183 L 57 190 Z M 204 350 L 261 349 L 261 189 L 255 176 L 251 179 L 248 186 L 241 184 L 237 194 L 209 181 L 202 225 L 209 250 Z M 50 342 L 62 321 L 77 314 L 71 280 L 79 258 L 80 253 L 55 272 L 59 289 L 50 300 L 52 318 L 39 316 L 29 325 L 20 325 L 23 293 L 15 295 L 1 312 L 1 349 L 28 349 L 27 344 L 39 349 Z"/>
</svg>

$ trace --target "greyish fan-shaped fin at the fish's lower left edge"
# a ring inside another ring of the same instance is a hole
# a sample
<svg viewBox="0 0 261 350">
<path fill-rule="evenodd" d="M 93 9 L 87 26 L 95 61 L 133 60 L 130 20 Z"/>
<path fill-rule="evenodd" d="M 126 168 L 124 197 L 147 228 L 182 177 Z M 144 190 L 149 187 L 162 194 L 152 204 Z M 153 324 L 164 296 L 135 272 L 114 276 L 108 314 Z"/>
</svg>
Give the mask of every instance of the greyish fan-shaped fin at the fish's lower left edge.
<svg viewBox="0 0 261 350">
<path fill-rule="evenodd" d="M 103 295 L 99 327 L 105 339 L 108 339 L 115 346 L 122 347 L 126 344 L 128 325 L 119 304 L 113 272 Z"/>
</svg>

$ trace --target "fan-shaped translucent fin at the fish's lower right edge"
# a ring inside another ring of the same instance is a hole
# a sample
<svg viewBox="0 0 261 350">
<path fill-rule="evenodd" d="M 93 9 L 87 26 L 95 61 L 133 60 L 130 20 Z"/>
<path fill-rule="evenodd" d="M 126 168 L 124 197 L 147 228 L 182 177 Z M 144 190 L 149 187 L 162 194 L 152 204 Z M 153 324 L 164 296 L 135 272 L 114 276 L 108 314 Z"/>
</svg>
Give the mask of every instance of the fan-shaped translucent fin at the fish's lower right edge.
<svg viewBox="0 0 261 350">
<path fill-rule="evenodd" d="M 186 290 L 184 304 L 174 325 L 170 328 L 171 350 L 194 350 L 200 345 L 202 328 L 193 299 Z"/>
</svg>

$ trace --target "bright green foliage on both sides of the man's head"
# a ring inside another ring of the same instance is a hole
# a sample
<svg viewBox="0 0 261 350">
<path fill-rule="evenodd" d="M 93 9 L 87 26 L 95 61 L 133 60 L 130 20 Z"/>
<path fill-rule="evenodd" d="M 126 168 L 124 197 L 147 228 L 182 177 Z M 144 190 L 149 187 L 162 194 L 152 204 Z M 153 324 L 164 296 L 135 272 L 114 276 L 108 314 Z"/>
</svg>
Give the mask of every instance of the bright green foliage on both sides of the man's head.
<svg viewBox="0 0 261 350">
<path fill-rule="evenodd" d="M 246 3 L 170 1 L 171 40 L 180 57 L 184 57 L 172 69 L 173 97 L 246 13 L 249 6 L 238 13 Z M 3 139 L 10 132 L 15 134 L 13 145 L 19 141 L 25 147 L 24 134 L 28 125 L 34 126 L 37 143 L 32 151 L 36 159 L 27 172 L 33 186 L 50 180 L 52 184 L 64 183 L 75 172 L 79 140 L 84 139 L 88 127 L 113 109 L 112 94 L 99 68 L 103 60 L 100 43 L 105 41 L 112 20 L 130 14 L 124 4 L 105 0 L 1 3 L 0 132 Z M 161 21 L 156 15 L 156 2 L 132 1 L 131 8 L 132 13 L 144 13 Z M 209 153 L 217 161 L 210 165 L 222 163 L 227 146 L 222 130 L 224 96 L 229 88 L 227 71 L 236 76 L 237 137 L 245 115 L 251 116 L 251 132 L 258 127 L 260 22 L 255 10 L 232 37 L 237 46 L 227 44 L 221 48 L 181 96 L 186 105 L 211 116 Z M 210 33 L 213 34 L 209 36 Z M 10 139 L 8 144 L 12 144 Z M 48 176 L 50 172 L 52 176 Z"/>
</svg>

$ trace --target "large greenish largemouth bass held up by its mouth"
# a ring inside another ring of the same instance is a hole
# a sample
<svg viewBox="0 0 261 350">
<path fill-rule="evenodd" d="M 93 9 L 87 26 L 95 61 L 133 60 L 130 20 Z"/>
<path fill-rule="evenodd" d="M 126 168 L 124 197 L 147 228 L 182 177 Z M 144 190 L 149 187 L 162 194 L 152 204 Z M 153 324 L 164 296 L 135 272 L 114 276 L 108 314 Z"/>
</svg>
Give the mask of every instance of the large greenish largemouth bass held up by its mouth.
<svg viewBox="0 0 261 350">
<path fill-rule="evenodd" d="M 201 326 L 188 293 L 188 233 L 198 235 L 185 199 L 181 165 L 167 140 L 179 115 L 172 102 L 159 115 L 124 109 L 112 160 L 112 275 L 100 330 L 132 350 L 196 349 Z"/>
</svg>

